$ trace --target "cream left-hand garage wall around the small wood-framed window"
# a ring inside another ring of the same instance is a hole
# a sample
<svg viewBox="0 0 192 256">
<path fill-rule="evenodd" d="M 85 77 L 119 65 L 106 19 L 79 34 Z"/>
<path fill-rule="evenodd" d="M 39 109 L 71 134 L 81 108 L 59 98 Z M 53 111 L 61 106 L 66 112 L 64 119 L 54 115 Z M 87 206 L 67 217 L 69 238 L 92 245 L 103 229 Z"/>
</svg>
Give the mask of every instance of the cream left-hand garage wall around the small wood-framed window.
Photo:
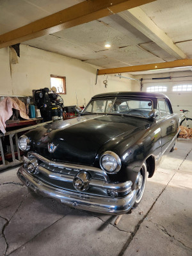
<svg viewBox="0 0 192 256">
<path fill-rule="evenodd" d="M 104 88 L 106 76 L 98 76 L 95 85 L 96 66 L 43 51 L 28 45 L 20 45 L 19 63 L 12 64 L 8 48 L 0 49 L 0 95 L 32 95 L 33 89 L 51 88 L 50 76 L 66 76 L 67 95 L 62 95 L 65 106 L 86 104 L 98 93 L 140 90 L 140 84 L 128 79 L 108 76 L 108 88 Z M 128 76 L 127 76 L 128 77 Z M 130 76 L 132 77 L 132 76 Z"/>
</svg>

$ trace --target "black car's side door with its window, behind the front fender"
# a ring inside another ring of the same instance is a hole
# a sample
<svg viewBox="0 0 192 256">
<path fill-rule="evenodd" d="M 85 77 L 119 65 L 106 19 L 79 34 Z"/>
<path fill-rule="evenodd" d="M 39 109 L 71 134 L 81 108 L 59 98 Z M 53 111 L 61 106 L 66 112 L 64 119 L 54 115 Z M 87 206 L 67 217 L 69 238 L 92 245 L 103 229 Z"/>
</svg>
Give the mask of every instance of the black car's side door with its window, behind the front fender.
<svg viewBox="0 0 192 256">
<path fill-rule="evenodd" d="M 175 118 L 166 99 L 158 99 L 157 108 L 157 119 L 161 128 L 161 152 L 164 154 L 175 136 Z"/>
</svg>

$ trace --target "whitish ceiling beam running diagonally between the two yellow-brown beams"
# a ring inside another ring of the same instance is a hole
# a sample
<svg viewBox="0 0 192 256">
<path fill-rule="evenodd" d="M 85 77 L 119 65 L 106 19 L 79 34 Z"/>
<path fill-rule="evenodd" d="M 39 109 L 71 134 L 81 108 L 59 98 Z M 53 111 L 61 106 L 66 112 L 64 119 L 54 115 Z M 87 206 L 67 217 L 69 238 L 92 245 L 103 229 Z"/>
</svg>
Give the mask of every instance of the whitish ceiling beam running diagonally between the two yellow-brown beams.
<svg viewBox="0 0 192 256">
<path fill-rule="evenodd" d="M 160 29 L 140 7 L 126 10 L 118 13 L 118 15 L 173 57 L 178 60 L 188 58 L 186 54 L 174 44 L 172 39 L 166 35 L 166 33 L 164 33 L 164 31 Z"/>
</svg>

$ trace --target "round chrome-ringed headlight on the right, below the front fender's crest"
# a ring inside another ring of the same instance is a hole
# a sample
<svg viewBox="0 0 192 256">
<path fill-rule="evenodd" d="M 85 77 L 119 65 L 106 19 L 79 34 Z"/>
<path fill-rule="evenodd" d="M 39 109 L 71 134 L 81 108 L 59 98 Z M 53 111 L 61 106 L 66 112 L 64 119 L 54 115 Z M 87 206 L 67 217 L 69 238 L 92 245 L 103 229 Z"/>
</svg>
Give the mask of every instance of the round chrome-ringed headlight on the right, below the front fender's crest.
<svg viewBox="0 0 192 256">
<path fill-rule="evenodd" d="M 122 163 L 120 157 L 112 151 L 106 151 L 100 157 L 100 167 L 109 173 L 116 173 L 120 170 Z"/>
</svg>

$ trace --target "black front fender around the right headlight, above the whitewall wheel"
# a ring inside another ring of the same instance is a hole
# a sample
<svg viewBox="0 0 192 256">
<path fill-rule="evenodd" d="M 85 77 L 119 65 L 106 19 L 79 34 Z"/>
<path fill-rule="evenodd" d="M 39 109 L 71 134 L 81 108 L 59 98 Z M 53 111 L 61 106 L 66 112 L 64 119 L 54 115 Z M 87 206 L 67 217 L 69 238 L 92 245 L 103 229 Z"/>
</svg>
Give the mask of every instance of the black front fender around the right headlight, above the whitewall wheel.
<svg viewBox="0 0 192 256">
<path fill-rule="evenodd" d="M 141 165 L 149 156 L 156 160 L 161 159 L 161 128 L 154 123 L 147 129 L 137 129 L 113 138 L 100 148 L 95 158 L 95 166 L 99 167 L 100 156 L 107 150 L 118 154 L 122 162 L 120 171 L 108 174 L 109 179 L 118 182 L 131 180 L 134 184 Z"/>
</svg>

